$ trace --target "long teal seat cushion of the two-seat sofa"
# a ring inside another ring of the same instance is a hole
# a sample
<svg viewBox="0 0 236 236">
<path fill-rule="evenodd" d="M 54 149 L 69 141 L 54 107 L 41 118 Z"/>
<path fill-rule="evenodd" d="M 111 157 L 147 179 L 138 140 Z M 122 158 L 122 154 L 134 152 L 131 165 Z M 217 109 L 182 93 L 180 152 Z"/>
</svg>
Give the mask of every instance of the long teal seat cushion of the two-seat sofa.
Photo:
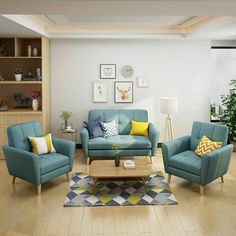
<svg viewBox="0 0 236 236">
<path fill-rule="evenodd" d="M 95 138 L 88 141 L 89 149 L 112 149 L 116 144 L 119 149 L 150 149 L 152 144 L 148 137 L 136 135 L 117 135 L 109 138 Z"/>
</svg>

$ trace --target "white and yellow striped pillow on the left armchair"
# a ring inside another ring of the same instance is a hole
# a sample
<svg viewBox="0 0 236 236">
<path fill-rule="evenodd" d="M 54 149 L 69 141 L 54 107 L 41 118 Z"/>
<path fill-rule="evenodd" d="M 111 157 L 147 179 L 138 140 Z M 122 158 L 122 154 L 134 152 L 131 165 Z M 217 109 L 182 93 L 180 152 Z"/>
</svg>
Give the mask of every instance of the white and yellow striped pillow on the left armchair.
<svg viewBox="0 0 236 236">
<path fill-rule="evenodd" d="M 56 152 L 52 144 L 51 134 L 47 134 L 44 137 L 28 137 L 28 138 L 31 142 L 33 153 L 41 155 L 41 154 Z"/>
</svg>

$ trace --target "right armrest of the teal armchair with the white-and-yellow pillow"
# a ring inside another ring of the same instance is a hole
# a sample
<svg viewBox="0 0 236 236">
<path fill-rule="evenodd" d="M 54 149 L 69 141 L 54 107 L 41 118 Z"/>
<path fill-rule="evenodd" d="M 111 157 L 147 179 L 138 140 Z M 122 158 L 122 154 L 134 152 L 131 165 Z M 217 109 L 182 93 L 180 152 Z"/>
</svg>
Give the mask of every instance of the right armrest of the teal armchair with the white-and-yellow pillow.
<svg viewBox="0 0 236 236">
<path fill-rule="evenodd" d="M 52 138 L 52 142 L 57 153 L 60 153 L 70 158 L 70 170 L 72 170 L 73 160 L 75 156 L 75 142 L 55 137 Z"/>
</svg>

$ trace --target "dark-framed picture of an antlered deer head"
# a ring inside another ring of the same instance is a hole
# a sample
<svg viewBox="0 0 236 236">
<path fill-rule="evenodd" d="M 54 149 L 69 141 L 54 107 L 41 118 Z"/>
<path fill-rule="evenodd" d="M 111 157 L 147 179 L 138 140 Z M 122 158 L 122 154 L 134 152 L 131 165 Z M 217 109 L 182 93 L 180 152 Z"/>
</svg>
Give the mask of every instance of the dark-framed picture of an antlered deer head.
<svg viewBox="0 0 236 236">
<path fill-rule="evenodd" d="M 133 82 L 115 82 L 114 83 L 115 103 L 133 102 Z"/>
</svg>

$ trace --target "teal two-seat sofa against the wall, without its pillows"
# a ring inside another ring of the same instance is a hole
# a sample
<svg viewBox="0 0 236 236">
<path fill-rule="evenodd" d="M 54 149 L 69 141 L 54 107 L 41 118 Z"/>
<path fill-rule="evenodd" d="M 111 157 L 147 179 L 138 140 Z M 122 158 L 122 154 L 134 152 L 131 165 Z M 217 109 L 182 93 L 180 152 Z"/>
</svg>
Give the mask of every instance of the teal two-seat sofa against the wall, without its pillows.
<svg viewBox="0 0 236 236">
<path fill-rule="evenodd" d="M 148 112 L 146 110 L 91 110 L 88 113 L 88 121 L 95 121 L 101 117 L 103 122 L 116 121 L 118 136 L 109 138 L 98 137 L 89 138 L 88 130 L 83 127 L 80 132 L 84 156 L 87 157 L 89 164 L 92 159 L 99 157 L 115 156 L 112 150 L 112 144 L 117 144 L 120 150 L 120 156 L 155 156 L 159 132 L 153 124 L 149 123 L 149 136 L 129 135 L 131 129 L 131 120 L 148 121 Z"/>
</svg>

